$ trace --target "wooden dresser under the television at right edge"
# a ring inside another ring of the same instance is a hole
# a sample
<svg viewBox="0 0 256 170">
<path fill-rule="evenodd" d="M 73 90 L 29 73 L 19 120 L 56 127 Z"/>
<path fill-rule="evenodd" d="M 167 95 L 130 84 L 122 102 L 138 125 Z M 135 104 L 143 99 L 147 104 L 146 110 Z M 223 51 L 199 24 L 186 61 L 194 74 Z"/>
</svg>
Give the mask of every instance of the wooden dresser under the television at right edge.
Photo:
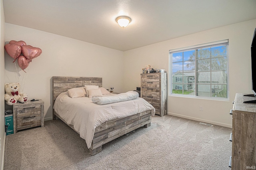
<svg viewBox="0 0 256 170">
<path fill-rule="evenodd" d="M 232 109 L 232 170 L 256 168 L 256 104 L 249 100 L 256 98 L 236 94 Z"/>
</svg>

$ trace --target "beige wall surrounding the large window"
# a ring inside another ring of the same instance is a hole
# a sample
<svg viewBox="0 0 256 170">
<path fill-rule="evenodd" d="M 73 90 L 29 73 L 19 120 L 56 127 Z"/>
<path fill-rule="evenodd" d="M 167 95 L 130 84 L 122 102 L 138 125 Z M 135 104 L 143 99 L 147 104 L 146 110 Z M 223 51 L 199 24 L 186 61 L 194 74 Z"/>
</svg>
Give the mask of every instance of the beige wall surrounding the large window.
<svg viewBox="0 0 256 170">
<path fill-rule="evenodd" d="M 170 76 L 168 52 L 171 49 L 229 39 L 229 101 L 168 96 L 168 114 L 231 127 L 229 112 L 235 94 L 251 93 L 250 46 L 255 27 L 256 20 L 250 20 L 125 51 L 124 91 L 140 86 L 140 73 L 147 64 L 165 69 Z M 199 111 L 199 106 L 204 110 Z"/>
</svg>

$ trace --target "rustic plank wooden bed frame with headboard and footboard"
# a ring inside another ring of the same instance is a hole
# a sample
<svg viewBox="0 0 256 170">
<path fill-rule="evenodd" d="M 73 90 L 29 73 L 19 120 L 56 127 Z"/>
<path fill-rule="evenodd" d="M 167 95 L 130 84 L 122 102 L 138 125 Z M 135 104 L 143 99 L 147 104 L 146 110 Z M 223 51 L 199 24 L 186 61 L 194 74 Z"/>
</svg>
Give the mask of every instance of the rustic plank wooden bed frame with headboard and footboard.
<svg viewBox="0 0 256 170">
<path fill-rule="evenodd" d="M 70 88 L 84 87 L 84 85 L 96 85 L 102 87 L 102 78 L 59 76 L 52 77 L 52 106 L 54 105 L 54 102 L 60 93 L 66 92 Z M 56 119 L 56 117 L 64 121 L 53 109 L 52 119 Z M 66 121 L 64 122 L 66 123 Z M 67 125 L 74 129 L 73 125 Z M 106 121 L 95 129 L 92 145 L 89 149 L 90 154 L 94 155 L 99 153 L 102 150 L 102 145 L 108 143 L 109 141 L 134 131 L 139 127 L 144 126 L 147 128 L 150 127 L 150 125 L 151 110 L 144 111 L 136 115 L 130 115 L 128 117 Z"/>
</svg>

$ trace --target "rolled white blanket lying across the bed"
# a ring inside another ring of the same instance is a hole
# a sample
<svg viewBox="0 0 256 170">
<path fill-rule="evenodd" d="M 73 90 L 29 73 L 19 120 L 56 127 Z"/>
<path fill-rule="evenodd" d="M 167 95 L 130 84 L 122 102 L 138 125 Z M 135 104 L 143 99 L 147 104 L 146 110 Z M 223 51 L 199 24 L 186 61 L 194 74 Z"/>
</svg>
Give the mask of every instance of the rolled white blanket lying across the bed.
<svg viewBox="0 0 256 170">
<path fill-rule="evenodd" d="M 129 91 L 126 93 L 120 93 L 114 96 L 105 96 L 105 97 L 94 97 L 92 102 L 96 104 L 110 104 L 116 102 L 124 102 L 127 100 L 133 100 L 139 97 L 138 92 Z"/>
</svg>

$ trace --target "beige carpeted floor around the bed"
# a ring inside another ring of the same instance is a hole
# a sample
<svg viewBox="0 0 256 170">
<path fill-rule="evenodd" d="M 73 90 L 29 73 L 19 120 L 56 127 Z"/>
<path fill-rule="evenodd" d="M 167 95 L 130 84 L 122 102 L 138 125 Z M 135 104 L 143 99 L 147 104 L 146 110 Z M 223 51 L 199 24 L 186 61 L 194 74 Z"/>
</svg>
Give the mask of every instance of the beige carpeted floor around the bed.
<svg viewBox="0 0 256 170">
<path fill-rule="evenodd" d="M 165 115 L 90 156 L 61 120 L 6 136 L 4 170 L 229 170 L 232 129 Z"/>
</svg>

